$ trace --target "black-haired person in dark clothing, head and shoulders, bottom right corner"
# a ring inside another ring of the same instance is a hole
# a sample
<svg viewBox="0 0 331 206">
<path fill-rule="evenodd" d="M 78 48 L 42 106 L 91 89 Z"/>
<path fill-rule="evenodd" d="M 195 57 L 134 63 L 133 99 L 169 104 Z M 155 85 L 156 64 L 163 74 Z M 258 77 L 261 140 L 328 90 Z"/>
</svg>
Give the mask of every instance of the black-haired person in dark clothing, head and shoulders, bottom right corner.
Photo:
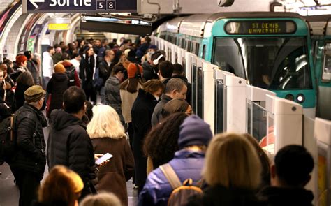
<svg viewBox="0 0 331 206">
<path fill-rule="evenodd" d="M 283 147 L 270 168 L 271 186 L 260 191 L 260 198 L 270 206 L 311 206 L 314 195 L 304 186 L 310 181 L 313 168 L 314 159 L 306 148 L 300 145 Z"/>
</svg>

